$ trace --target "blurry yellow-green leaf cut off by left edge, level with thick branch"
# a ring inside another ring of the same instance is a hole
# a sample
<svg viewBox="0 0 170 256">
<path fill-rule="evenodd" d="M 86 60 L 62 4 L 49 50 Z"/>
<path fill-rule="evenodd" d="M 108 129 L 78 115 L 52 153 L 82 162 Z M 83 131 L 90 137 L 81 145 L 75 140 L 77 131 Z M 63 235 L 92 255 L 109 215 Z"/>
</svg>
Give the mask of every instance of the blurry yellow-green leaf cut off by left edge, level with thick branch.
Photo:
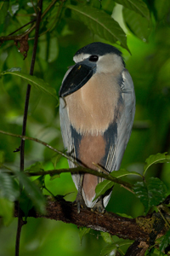
<svg viewBox="0 0 170 256">
<path fill-rule="evenodd" d="M 14 202 L 0 197 L 0 216 L 3 217 L 3 224 L 8 225 L 14 218 Z"/>
</svg>

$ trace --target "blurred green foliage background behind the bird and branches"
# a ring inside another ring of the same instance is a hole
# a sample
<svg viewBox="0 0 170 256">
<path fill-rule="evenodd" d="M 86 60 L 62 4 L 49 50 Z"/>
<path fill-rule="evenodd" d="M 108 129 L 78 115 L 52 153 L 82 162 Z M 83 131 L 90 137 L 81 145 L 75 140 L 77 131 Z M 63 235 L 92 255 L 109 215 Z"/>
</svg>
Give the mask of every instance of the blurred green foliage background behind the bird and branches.
<svg viewBox="0 0 170 256">
<path fill-rule="evenodd" d="M 136 114 L 133 132 L 122 160 L 122 168 L 132 172 L 143 172 L 144 161 L 150 154 L 164 153 L 169 150 L 170 142 L 170 3 L 169 0 L 89 0 L 89 1 L 47 1 L 42 2 L 42 13 L 47 11 L 41 21 L 40 37 L 37 44 L 34 75 L 43 79 L 58 94 L 60 84 L 67 67 L 73 64 L 72 57 L 77 49 L 95 41 L 114 44 L 122 50 L 126 67 L 131 73 L 136 92 Z M 120 3 L 120 4 L 119 4 Z M 117 30 L 116 25 L 106 24 L 106 18 L 117 20 L 125 34 Z M 3 73 L 12 67 L 20 67 L 21 73 L 29 73 L 35 30 L 29 33 L 29 50 L 22 52 L 23 44 L 1 38 L 8 36 L 36 17 L 37 1 L 0 1 L 0 130 L 21 134 L 22 119 L 26 97 L 26 80 L 13 74 Z M 96 18 L 98 17 L 98 18 Z M 33 24 L 20 29 L 14 35 L 26 32 Z M 107 25 L 107 27 L 105 27 Z M 107 28 L 107 29 L 106 29 Z M 14 36 L 13 35 L 13 36 Z M 122 47 L 121 47 L 122 45 Z M 129 50 L 128 50 L 129 49 Z M 129 54 L 131 53 L 131 55 Z M 24 57 L 25 55 L 25 57 Z M 25 58 L 25 59 L 24 59 Z M 23 60 L 24 59 L 24 60 Z M 31 88 L 29 114 L 26 135 L 37 137 L 64 150 L 59 130 L 59 102 Z M 0 160 L 2 170 L 20 169 L 20 138 L 0 134 Z M 38 168 L 44 170 L 68 167 L 65 158 L 43 147 L 41 144 L 26 141 L 25 169 L 40 162 Z M 3 173 L 2 171 L 2 173 Z M 14 255 L 14 236 L 17 219 L 14 219 L 14 200 L 18 199 L 18 187 L 14 182 L 4 184 L 0 172 L 0 256 Z M 146 177 L 159 177 L 170 190 L 170 166 L 159 164 L 150 167 Z M 36 179 L 35 177 L 32 178 Z M 134 183 L 138 177 L 127 177 Z M 8 182 L 8 178 L 7 178 Z M 77 189 L 70 173 L 50 179 L 44 176 L 47 189 L 43 194 L 68 195 L 65 200 L 74 201 Z M 11 186 L 13 189 L 11 189 Z M 2 188 L 6 188 L 3 191 Z M 8 189 L 7 189 L 8 188 Z M 8 190 L 8 191 L 7 191 Z M 71 194 L 69 194 L 71 193 Z M 24 195 L 23 195 L 24 198 Z M 139 199 L 115 185 L 107 211 L 126 213 L 133 218 L 144 213 L 144 206 Z M 22 228 L 20 238 L 21 255 L 99 255 L 107 245 L 101 234 L 90 230 L 79 239 L 79 230 L 74 224 L 64 224 L 43 218 L 28 218 L 28 224 Z M 114 241 L 118 238 L 113 237 Z M 125 250 L 126 248 L 122 248 Z M 125 250 L 126 251 L 126 250 Z M 155 251 L 156 253 L 156 251 Z M 112 254 L 114 255 L 114 254 Z M 157 254 L 150 254 L 157 255 Z M 159 255 L 159 254 L 158 254 Z M 164 254 L 162 254 L 164 255 Z"/>
</svg>

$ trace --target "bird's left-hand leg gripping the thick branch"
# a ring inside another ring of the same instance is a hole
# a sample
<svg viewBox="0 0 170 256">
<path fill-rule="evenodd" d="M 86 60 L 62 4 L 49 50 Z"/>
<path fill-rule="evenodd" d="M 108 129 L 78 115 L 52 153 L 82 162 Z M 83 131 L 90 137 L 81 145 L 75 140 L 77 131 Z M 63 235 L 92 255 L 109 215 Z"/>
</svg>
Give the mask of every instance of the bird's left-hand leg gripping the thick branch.
<svg viewBox="0 0 170 256">
<path fill-rule="evenodd" d="M 78 183 L 78 192 L 77 192 L 77 198 L 74 201 L 74 205 L 77 205 L 77 212 L 80 213 L 80 208 L 86 208 L 85 201 L 82 197 L 82 184 L 83 184 L 83 178 L 84 174 L 80 174 L 80 181 Z"/>
</svg>

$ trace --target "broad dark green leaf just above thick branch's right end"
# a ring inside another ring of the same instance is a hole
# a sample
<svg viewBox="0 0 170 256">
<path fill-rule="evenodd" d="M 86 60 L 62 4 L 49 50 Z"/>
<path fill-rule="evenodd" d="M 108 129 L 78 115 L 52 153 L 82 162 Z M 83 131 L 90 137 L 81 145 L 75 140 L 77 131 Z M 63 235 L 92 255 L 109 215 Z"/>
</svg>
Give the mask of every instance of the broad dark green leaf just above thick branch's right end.
<svg viewBox="0 0 170 256">
<path fill-rule="evenodd" d="M 143 203 L 146 213 L 150 207 L 155 207 L 164 201 L 167 195 L 166 185 L 158 177 L 150 177 L 146 183 L 135 183 L 133 191 Z"/>
</svg>

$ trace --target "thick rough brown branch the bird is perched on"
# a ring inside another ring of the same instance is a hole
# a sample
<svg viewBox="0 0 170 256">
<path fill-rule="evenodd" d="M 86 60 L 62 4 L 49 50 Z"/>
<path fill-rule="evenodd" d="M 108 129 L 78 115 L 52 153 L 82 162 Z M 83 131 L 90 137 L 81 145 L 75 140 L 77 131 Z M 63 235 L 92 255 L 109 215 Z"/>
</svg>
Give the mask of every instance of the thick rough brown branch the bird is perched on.
<svg viewBox="0 0 170 256">
<path fill-rule="evenodd" d="M 64 199 L 48 201 L 47 212 L 46 215 L 42 215 L 31 210 L 28 212 L 28 217 L 61 220 L 66 224 L 76 224 L 77 227 L 108 232 L 111 236 L 116 235 L 123 239 L 144 241 L 144 246 L 150 243 L 150 232 L 153 230 L 157 218 L 154 214 L 139 218 L 123 218 L 112 212 L 105 212 L 105 214 L 92 212 L 89 208 L 81 209 L 81 212 L 77 213 L 77 207 Z M 17 208 L 14 217 L 18 217 Z M 161 231 L 159 236 L 164 234 L 165 230 Z"/>
</svg>

